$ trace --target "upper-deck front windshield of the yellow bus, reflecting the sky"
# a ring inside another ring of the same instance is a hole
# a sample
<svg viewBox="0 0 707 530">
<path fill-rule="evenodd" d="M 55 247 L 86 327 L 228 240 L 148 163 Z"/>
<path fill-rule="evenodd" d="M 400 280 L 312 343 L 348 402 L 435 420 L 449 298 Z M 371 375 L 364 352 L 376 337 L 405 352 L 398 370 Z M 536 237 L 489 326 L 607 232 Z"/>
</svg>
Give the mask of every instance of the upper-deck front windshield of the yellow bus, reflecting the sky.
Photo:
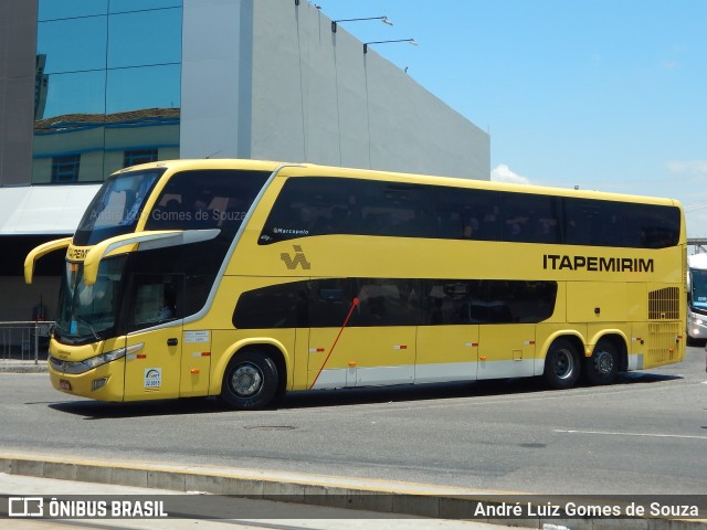
<svg viewBox="0 0 707 530">
<path fill-rule="evenodd" d="M 94 245 L 134 232 L 145 200 L 163 172 L 165 169 L 130 171 L 108 179 L 78 223 L 74 245 Z"/>
</svg>

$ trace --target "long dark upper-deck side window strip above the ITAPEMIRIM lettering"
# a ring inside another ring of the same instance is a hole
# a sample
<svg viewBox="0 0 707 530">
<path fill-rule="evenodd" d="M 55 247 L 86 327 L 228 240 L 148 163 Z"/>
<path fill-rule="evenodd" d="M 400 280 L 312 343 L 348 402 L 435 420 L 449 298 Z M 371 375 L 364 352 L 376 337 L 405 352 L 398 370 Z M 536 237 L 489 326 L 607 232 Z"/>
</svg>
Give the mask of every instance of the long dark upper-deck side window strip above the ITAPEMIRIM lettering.
<svg viewBox="0 0 707 530">
<path fill-rule="evenodd" d="M 260 243 L 326 234 L 658 248 L 677 208 L 360 179 L 288 180 Z"/>
</svg>

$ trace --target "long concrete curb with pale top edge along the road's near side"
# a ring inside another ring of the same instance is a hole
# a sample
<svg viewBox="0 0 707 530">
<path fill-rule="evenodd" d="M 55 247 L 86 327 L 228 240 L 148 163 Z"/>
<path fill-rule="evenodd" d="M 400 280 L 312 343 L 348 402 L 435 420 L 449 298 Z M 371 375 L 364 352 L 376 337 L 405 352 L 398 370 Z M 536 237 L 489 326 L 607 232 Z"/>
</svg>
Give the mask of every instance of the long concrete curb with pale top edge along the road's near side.
<svg viewBox="0 0 707 530">
<path fill-rule="evenodd" d="M 198 491 L 263 500 L 284 500 L 300 505 L 348 508 L 400 516 L 473 519 L 478 522 L 538 529 L 563 527 L 572 530 L 624 529 L 627 527 L 632 530 L 707 529 L 707 520 L 479 518 L 472 517 L 479 501 L 499 502 L 497 496 L 504 496 L 514 499 L 532 498 L 534 502 L 539 504 L 542 496 L 255 469 L 0 454 L 0 473 L 172 491 Z M 548 498 L 550 497 L 548 496 Z M 557 500 L 557 496 L 553 498 Z"/>
</svg>

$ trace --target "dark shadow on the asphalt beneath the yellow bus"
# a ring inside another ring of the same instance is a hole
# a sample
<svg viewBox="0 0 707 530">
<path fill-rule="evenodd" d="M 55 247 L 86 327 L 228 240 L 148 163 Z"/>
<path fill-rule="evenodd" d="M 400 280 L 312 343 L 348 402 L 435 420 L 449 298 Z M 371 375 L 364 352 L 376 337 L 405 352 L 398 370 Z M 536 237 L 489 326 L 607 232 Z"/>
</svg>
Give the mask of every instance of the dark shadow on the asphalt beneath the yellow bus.
<svg viewBox="0 0 707 530">
<path fill-rule="evenodd" d="M 655 384 L 684 379 L 682 375 L 626 372 L 621 373 L 611 389 L 633 384 Z M 577 389 L 591 390 L 592 386 L 579 384 Z M 519 378 L 484 380 L 472 382 L 430 383 L 418 385 L 397 385 L 339 390 L 313 390 L 288 393 L 282 403 L 271 407 L 277 410 L 331 407 L 363 404 L 414 403 L 435 400 L 473 399 L 495 395 L 526 395 L 551 391 L 539 378 Z M 258 412 L 232 411 L 215 398 L 188 398 L 179 400 L 158 400 L 135 403 L 105 403 L 99 401 L 65 401 L 49 405 L 59 412 L 84 416 L 85 420 L 110 420 L 141 416 L 168 416 L 184 414 L 214 414 L 236 412 L 239 414 L 258 414 Z"/>
</svg>

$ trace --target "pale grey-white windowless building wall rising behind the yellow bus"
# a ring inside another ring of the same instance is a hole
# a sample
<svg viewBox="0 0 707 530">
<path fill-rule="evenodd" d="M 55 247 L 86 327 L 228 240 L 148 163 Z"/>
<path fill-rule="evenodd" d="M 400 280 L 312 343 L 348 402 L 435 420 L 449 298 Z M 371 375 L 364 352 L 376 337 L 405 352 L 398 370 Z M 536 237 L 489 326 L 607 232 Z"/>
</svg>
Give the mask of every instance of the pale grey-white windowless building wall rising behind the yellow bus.
<svg viewBox="0 0 707 530">
<path fill-rule="evenodd" d="M 488 180 L 490 139 L 307 0 L 184 0 L 181 157 Z"/>
</svg>

